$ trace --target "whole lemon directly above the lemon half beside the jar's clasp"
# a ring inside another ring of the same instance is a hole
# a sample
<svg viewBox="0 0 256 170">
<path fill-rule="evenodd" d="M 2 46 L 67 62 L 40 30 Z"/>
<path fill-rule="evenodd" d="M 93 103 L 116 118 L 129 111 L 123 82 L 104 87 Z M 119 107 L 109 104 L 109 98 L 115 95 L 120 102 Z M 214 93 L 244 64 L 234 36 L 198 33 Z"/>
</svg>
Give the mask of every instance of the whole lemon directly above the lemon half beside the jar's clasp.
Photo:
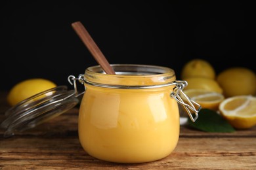
<svg viewBox="0 0 256 170">
<path fill-rule="evenodd" d="M 211 78 L 189 77 L 189 78 L 184 78 L 184 80 L 188 82 L 188 86 L 186 86 L 184 90 L 204 89 L 210 92 L 223 93 L 223 89 L 221 88 L 221 86 L 219 86 L 216 80 L 213 80 Z"/>
</svg>

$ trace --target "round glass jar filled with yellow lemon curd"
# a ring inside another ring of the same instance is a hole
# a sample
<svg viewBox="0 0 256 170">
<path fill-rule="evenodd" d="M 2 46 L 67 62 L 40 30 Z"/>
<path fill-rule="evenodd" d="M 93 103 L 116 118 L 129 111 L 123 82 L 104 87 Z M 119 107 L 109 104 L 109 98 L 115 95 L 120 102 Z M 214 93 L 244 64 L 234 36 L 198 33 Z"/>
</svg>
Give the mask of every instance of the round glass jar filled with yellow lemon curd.
<svg viewBox="0 0 256 170">
<path fill-rule="evenodd" d="M 99 66 L 85 71 L 79 141 L 100 160 L 142 163 L 165 158 L 179 140 L 179 108 L 170 97 L 175 72 L 152 65 Z"/>
</svg>

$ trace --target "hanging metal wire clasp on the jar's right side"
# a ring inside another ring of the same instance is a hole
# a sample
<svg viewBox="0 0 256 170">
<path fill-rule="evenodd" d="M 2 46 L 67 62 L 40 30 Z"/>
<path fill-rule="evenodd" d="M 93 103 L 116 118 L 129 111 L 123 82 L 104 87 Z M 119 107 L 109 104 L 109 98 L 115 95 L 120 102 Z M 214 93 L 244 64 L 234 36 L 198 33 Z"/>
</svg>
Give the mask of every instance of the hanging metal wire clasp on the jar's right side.
<svg viewBox="0 0 256 170">
<path fill-rule="evenodd" d="M 188 97 L 188 95 L 186 95 L 182 91 L 184 87 L 186 87 L 187 85 L 188 83 L 186 81 L 180 81 L 180 80 L 175 81 L 175 88 L 173 89 L 173 92 L 171 92 L 171 97 L 173 97 L 179 104 L 181 104 L 184 107 L 184 109 L 186 109 L 186 112 L 188 113 L 190 120 L 192 120 L 192 122 L 196 122 L 196 120 L 198 119 L 198 112 L 200 111 L 201 106 L 195 101 L 193 101 L 192 99 L 190 99 L 190 97 Z M 181 96 L 185 101 L 183 101 Z M 196 114 L 195 117 L 193 117 L 190 110 L 192 110 L 192 112 Z"/>
</svg>

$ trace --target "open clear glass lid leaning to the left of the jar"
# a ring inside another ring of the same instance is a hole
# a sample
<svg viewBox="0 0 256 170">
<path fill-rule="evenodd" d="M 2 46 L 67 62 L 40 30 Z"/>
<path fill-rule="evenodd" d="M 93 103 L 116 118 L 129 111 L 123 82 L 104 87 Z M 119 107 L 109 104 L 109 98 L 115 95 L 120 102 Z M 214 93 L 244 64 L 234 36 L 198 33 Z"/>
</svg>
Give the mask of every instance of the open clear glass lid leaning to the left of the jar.
<svg viewBox="0 0 256 170">
<path fill-rule="evenodd" d="M 4 137 L 35 127 L 72 109 L 79 103 L 75 95 L 76 90 L 57 86 L 14 105 L 5 112 L 7 118 L 1 123 L 1 127 L 6 129 Z"/>
</svg>

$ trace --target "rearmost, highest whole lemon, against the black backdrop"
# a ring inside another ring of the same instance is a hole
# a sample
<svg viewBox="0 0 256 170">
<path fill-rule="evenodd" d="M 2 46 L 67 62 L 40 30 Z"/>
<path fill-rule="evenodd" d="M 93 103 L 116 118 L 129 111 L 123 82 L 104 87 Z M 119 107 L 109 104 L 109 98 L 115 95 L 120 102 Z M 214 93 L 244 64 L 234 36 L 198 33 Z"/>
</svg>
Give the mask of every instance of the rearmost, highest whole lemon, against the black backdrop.
<svg viewBox="0 0 256 170">
<path fill-rule="evenodd" d="M 192 76 L 214 79 L 215 69 L 204 59 L 192 59 L 182 67 L 181 79 Z"/>
</svg>

